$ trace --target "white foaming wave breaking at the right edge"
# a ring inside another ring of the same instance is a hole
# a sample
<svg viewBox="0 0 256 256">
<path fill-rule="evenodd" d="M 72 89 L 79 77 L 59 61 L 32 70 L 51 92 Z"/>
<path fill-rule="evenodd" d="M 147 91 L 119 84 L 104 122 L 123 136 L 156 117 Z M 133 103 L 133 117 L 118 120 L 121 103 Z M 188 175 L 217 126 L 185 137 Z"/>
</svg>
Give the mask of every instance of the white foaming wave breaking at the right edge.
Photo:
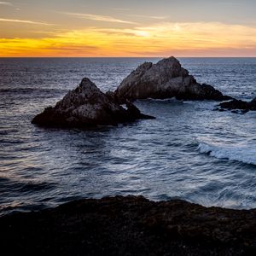
<svg viewBox="0 0 256 256">
<path fill-rule="evenodd" d="M 244 143 L 236 145 L 223 145 L 220 143 L 199 143 L 197 150 L 202 154 L 209 154 L 218 159 L 236 160 L 245 164 L 256 166 L 256 147 Z"/>
</svg>

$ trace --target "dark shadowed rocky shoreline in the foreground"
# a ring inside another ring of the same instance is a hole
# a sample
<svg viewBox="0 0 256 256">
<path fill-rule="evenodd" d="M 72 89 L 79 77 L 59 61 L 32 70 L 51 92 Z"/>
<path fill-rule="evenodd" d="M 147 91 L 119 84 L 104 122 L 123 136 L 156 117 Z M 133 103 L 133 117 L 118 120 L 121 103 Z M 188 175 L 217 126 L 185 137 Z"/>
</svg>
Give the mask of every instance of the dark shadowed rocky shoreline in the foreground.
<svg viewBox="0 0 256 256">
<path fill-rule="evenodd" d="M 256 209 L 84 199 L 4 216 L 0 234 L 1 255 L 256 255 Z"/>
</svg>

